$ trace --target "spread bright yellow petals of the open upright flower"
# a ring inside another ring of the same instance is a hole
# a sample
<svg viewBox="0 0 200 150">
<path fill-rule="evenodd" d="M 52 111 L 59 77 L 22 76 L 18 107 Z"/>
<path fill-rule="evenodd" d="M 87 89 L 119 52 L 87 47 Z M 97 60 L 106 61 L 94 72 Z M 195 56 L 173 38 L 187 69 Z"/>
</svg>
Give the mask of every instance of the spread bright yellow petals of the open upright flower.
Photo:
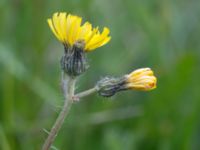
<svg viewBox="0 0 200 150">
<path fill-rule="evenodd" d="M 67 47 L 82 43 L 83 50 L 88 52 L 105 45 L 111 39 L 108 28 L 104 27 L 100 33 L 98 27 L 93 28 L 89 22 L 82 24 L 81 17 L 65 12 L 54 13 L 47 21 L 56 38 Z"/>
</svg>

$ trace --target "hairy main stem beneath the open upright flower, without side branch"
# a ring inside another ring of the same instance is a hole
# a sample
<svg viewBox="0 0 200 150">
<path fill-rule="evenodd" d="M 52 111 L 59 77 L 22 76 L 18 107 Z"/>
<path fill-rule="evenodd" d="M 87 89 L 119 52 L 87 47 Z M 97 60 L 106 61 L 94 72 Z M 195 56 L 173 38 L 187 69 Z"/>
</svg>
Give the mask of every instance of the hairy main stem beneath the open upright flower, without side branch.
<svg viewBox="0 0 200 150">
<path fill-rule="evenodd" d="M 64 97 L 65 97 L 64 106 L 60 114 L 58 115 L 58 118 L 56 119 L 56 122 L 54 123 L 51 131 L 49 132 L 49 135 L 43 145 L 42 150 L 49 150 L 51 148 L 53 141 L 55 140 L 60 128 L 62 127 L 65 117 L 69 113 L 69 110 L 73 103 L 72 97 L 74 95 L 74 85 L 75 85 L 75 79 L 63 73 L 62 74 L 62 88 L 63 88 Z"/>
</svg>

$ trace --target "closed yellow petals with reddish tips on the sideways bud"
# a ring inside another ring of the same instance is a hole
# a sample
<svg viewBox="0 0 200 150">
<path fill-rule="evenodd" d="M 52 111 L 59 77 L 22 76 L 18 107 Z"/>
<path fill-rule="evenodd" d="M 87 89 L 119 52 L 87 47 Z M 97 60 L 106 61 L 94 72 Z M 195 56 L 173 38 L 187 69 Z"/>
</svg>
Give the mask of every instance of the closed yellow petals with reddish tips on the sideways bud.
<svg viewBox="0 0 200 150">
<path fill-rule="evenodd" d="M 156 88 L 157 79 L 150 68 L 137 69 L 126 75 L 126 87 L 130 89 L 148 91 Z"/>
</svg>

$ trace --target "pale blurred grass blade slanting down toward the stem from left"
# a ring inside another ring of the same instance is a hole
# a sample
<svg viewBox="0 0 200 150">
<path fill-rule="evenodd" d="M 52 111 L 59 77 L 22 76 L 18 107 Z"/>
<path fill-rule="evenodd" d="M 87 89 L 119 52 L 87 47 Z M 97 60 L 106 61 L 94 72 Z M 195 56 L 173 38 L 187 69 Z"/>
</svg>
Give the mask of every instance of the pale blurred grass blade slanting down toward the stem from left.
<svg viewBox="0 0 200 150">
<path fill-rule="evenodd" d="M 42 79 L 33 78 L 31 72 L 25 65 L 16 58 L 12 51 L 0 44 L 0 64 L 16 79 L 25 82 L 25 84 L 39 97 L 49 104 L 58 105 L 58 94 Z"/>
</svg>

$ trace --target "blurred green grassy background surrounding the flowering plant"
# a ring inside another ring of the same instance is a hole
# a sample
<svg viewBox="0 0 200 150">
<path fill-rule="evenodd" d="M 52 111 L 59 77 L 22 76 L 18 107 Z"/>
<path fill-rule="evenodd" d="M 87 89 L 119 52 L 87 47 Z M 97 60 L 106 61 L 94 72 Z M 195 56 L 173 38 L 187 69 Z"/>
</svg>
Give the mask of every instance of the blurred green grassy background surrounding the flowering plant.
<svg viewBox="0 0 200 150">
<path fill-rule="evenodd" d="M 88 53 L 77 92 L 141 67 L 158 77 L 151 92 L 75 103 L 57 149 L 199 150 L 199 0 L 0 0 L 1 150 L 41 149 L 62 107 L 63 46 L 46 21 L 56 11 L 111 30 L 111 42 Z"/>
</svg>

